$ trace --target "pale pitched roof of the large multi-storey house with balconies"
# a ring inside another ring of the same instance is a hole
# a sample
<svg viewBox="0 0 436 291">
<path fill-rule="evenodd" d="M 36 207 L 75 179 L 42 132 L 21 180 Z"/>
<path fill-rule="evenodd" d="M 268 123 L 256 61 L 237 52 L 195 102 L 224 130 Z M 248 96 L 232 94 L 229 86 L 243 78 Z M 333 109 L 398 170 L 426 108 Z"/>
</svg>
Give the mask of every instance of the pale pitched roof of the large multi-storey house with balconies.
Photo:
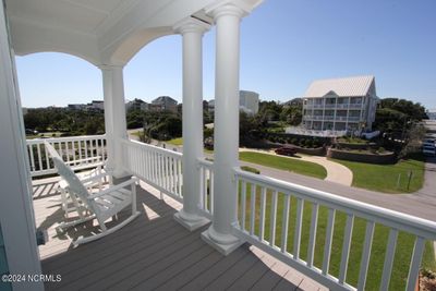
<svg viewBox="0 0 436 291">
<path fill-rule="evenodd" d="M 374 87 L 374 81 L 375 77 L 372 75 L 316 80 L 308 86 L 304 98 L 326 95 L 365 96 L 372 86 Z"/>
</svg>

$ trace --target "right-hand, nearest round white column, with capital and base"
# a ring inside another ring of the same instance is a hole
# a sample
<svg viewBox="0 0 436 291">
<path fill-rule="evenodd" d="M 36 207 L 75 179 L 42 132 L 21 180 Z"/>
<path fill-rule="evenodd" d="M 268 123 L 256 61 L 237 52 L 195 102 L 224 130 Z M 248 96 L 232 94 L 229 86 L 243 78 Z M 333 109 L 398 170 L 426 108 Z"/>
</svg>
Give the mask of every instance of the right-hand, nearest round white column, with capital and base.
<svg viewBox="0 0 436 291">
<path fill-rule="evenodd" d="M 227 255 L 242 242 L 231 234 L 237 221 L 237 183 L 233 167 L 239 166 L 239 41 L 244 11 L 225 4 L 211 11 L 217 25 L 214 136 L 214 219 L 202 238 Z"/>
</svg>

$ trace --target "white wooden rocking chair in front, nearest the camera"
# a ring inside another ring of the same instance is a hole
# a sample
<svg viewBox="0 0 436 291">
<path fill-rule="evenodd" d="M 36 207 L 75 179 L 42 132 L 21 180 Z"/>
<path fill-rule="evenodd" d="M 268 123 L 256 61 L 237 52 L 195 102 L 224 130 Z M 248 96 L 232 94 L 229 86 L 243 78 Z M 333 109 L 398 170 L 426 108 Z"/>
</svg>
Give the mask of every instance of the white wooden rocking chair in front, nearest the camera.
<svg viewBox="0 0 436 291">
<path fill-rule="evenodd" d="M 126 226 L 140 215 L 140 213 L 136 210 L 136 183 L 138 181 L 137 178 L 132 178 L 129 181 L 125 181 L 118 185 L 110 185 L 108 189 L 94 194 L 86 189 L 85 184 L 92 182 L 93 179 L 100 179 L 101 177 L 96 175 L 94 178 L 81 181 L 74 173 L 74 171 L 69 166 L 66 166 L 65 162 L 59 157 L 59 155 L 52 156 L 52 160 L 55 162 L 55 167 L 58 169 L 58 173 L 68 183 L 66 190 L 70 193 L 71 198 L 76 203 L 76 201 L 78 198 L 85 209 L 89 211 L 89 215 L 85 216 L 82 213 L 82 209 L 77 209 L 77 211 L 80 213 L 80 219 L 66 223 L 61 223 L 59 228 L 64 229 L 73 227 L 96 218 L 101 229 L 100 233 L 94 234 L 88 238 L 77 239 L 73 242 L 73 244 L 78 245 L 106 237 Z M 125 189 L 125 186 L 128 185 L 131 185 L 130 191 Z M 128 206 L 132 207 L 132 215 L 121 223 L 108 229 L 105 225 L 105 221 L 116 216 Z"/>
</svg>

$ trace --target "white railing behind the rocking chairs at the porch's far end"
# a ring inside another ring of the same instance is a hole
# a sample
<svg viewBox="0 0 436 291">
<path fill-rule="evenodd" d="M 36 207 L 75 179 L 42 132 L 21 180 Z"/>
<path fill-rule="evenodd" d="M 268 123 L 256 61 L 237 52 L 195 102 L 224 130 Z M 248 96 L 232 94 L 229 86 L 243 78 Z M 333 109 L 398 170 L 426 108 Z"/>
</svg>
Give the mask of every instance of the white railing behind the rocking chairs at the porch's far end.
<svg viewBox="0 0 436 291">
<path fill-rule="evenodd" d="M 50 143 L 74 170 L 96 167 L 107 157 L 105 135 L 27 140 L 32 177 L 57 172 L 44 146 L 45 141 Z"/>
</svg>

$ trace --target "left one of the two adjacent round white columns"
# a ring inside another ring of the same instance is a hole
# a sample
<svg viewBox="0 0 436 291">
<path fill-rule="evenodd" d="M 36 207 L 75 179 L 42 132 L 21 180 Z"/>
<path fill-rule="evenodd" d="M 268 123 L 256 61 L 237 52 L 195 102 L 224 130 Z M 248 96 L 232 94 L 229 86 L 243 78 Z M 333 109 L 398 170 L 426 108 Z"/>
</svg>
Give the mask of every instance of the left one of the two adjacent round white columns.
<svg viewBox="0 0 436 291">
<path fill-rule="evenodd" d="M 197 160 L 203 158 L 202 38 L 209 25 L 187 19 L 174 29 L 183 37 L 183 208 L 174 219 L 193 231 L 209 220 L 198 215 L 201 181 Z"/>
</svg>

